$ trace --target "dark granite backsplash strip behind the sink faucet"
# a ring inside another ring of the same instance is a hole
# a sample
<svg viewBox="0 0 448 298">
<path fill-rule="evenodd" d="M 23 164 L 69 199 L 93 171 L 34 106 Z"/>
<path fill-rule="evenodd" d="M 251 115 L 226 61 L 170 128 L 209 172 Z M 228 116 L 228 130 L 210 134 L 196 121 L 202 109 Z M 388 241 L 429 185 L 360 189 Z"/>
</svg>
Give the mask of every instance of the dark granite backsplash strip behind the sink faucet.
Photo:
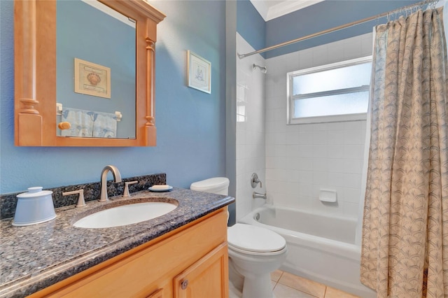
<svg viewBox="0 0 448 298">
<path fill-rule="evenodd" d="M 107 181 L 107 193 L 109 197 L 118 196 L 123 194 L 125 190 L 125 182 L 129 181 L 139 181 L 139 183 L 135 183 L 129 185 L 129 191 L 138 192 L 140 190 L 147 190 L 148 187 L 159 184 L 167 183 L 167 174 L 166 173 L 155 173 L 146 176 L 136 176 L 131 178 L 123 178 L 121 183 L 113 183 L 112 180 Z M 38 185 L 29 185 L 38 186 Z M 72 190 L 84 190 L 84 198 L 85 201 L 94 201 L 99 199 L 99 195 L 101 192 L 101 183 L 84 183 L 78 185 L 67 185 L 55 188 L 48 188 L 45 190 L 51 190 L 53 203 L 55 204 L 55 208 L 75 205 L 76 201 L 78 201 L 78 194 L 72 194 L 69 196 L 62 196 L 62 192 L 71 192 Z M 23 192 L 23 191 L 22 191 Z M 13 218 L 15 213 L 15 206 L 17 206 L 17 195 L 22 192 L 15 192 L 11 194 L 0 194 L 0 219 L 5 218 Z"/>
</svg>

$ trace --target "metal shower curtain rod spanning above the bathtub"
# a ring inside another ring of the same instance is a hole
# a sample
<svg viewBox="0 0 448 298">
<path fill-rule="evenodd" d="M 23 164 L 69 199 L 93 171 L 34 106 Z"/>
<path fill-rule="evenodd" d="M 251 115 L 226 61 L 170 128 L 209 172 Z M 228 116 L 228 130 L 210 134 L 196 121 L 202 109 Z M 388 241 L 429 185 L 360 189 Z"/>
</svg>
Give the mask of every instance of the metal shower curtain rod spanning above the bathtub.
<svg viewBox="0 0 448 298">
<path fill-rule="evenodd" d="M 352 26 L 357 25 L 357 24 L 362 24 L 362 23 L 369 22 L 369 21 L 372 21 L 372 20 L 375 20 L 375 19 L 379 19 L 380 17 L 386 17 L 388 15 L 393 15 L 394 13 L 397 13 L 398 11 L 407 10 L 409 8 L 414 8 L 415 6 L 424 6 L 424 5 L 430 4 L 430 3 L 434 3 L 434 5 L 435 5 L 435 3 L 437 3 L 438 1 L 439 0 L 423 0 L 423 1 L 420 1 L 420 2 L 417 2 L 417 3 L 410 4 L 408 6 L 403 6 L 402 8 L 397 8 L 395 10 L 388 11 L 387 13 L 380 13 L 379 15 L 374 15 L 372 17 L 365 17 L 362 20 L 358 20 L 358 21 L 355 21 L 355 22 L 350 22 L 350 23 L 343 24 L 343 25 L 340 25 L 340 26 L 337 26 L 337 27 L 332 27 L 330 29 L 326 29 L 326 30 L 323 30 L 323 31 L 320 31 L 320 32 L 317 32 L 317 33 L 314 33 L 314 34 L 309 34 L 307 36 L 296 38 L 296 39 L 293 39 L 291 41 L 286 41 L 284 43 L 279 43 L 278 45 L 271 45 L 270 47 L 263 48 L 261 50 L 255 50 L 253 52 L 248 52 L 247 54 L 237 54 L 237 55 L 238 55 L 239 59 L 243 59 L 243 58 L 251 56 L 251 55 L 259 54 L 260 52 L 267 52 L 269 50 L 275 50 L 276 48 L 282 48 L 285 45 L 298 43 L 299 41 L 304 41 L 304 40 L 309 39 L 309 38 L 313 38 L 313 37 L 320 36 L 320 35 L 323 35 L 323 34 L 328 34 L 328 33 L 331 33 L 331 32 L 337 31 L 337 30 L 341 30 L 341 29 L 345 29 L 345 28 L 348 28 L 348 27 L 352 27 Z"/>
</svg>

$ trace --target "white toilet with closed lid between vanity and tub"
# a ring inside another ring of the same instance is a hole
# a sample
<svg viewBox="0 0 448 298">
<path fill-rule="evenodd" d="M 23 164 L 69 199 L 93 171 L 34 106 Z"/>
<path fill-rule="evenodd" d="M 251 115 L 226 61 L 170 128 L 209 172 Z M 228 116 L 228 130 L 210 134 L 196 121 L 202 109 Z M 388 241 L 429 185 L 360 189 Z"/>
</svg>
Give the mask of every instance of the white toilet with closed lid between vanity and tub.
<svg viewBox="0 0 448 298">
<path fill-rule="evenodd" d="M 190 190 L 228 194 L 229 179 L 215 177 Z M 270 229 L 237 223 L 228 227 L 230 297 L 272 298 L 270 273 L 286 259 L 286 240 Z"/>
</svg>

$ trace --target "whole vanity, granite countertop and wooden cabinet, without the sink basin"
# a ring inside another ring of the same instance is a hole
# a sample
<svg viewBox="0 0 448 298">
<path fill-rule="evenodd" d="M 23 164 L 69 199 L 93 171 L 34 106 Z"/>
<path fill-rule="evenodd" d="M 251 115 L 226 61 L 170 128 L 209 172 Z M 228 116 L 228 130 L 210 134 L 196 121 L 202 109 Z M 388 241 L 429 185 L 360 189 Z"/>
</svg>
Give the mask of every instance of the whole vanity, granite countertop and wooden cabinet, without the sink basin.
<svg viewBox="0 0 448 298">
<path fill-rule="evenodd" d="M 137 224 L 73 227 L 102 204 L 148 197 L 179 205 Z M 226 206 L 232 201 L 192 190 L 144 190 L 57 208 L 55 220 L 39 225 L 3 220 L 0 297 L 228 297 Z"/>
</svg>

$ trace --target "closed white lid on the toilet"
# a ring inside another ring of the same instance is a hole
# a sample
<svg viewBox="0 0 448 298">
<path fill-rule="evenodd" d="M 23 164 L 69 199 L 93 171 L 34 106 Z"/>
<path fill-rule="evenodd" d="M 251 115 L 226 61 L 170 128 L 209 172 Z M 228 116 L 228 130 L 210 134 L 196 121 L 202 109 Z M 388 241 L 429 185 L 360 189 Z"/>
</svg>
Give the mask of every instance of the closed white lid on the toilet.
<svg viewBox="0 0 448 298">
<path fill-rule="evenodd" d="M 228 228 L 229 246 L 257 253 L 269 253 L 285 248 L 286 240 L 271 231 L 254 225 L 235 224 Z"/>
</svg>

